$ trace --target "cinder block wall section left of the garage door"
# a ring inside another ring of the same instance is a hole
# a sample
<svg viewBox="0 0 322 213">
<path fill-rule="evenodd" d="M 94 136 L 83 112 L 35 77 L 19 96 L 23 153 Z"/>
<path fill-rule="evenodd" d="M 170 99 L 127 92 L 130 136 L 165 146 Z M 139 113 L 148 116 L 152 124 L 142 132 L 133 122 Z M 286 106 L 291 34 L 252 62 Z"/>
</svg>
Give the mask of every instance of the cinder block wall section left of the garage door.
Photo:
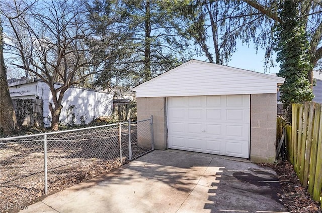
<svg viewBox="0 0 322 213">
<path fill-rule="evenodd" d="M 151 97 L 151 98 L 136 98 L 137 104 L 137 120 L 148 119 L 153 115 L 153 133 L 154 133 L 154 148 L 166 149 L 166 98 L 165 97 Z M 138 133 L 139 133 L 138 129 Z M 138 134 L 139 135 L 139 134 Z M 138 138 L 138 143 L 145 143 L 144 139 Z"/>
</svg>

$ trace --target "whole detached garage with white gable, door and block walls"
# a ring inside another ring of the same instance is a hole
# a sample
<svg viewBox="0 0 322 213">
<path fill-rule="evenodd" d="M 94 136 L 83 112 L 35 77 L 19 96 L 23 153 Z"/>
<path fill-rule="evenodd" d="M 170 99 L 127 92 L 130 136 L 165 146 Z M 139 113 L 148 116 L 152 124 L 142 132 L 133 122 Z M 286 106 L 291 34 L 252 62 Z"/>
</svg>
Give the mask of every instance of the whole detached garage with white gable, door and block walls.
<svg viewBox="0 0 322 213">
<path fill-rule="evenodd" d="M 153 115 L 156 149 L 275 159 L 283 78 L 190 60 L 135 87 L 137 118 Z"/>
</svg>

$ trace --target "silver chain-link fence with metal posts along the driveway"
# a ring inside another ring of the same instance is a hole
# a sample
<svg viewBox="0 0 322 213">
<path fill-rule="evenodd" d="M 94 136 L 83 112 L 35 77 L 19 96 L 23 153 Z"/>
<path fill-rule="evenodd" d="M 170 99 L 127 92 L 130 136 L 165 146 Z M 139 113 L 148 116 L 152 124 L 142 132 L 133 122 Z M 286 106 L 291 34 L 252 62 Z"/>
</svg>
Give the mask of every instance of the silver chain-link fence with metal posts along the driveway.
<svg viewBox="0 0 322 213">
<path fill-rule="evenodd" d="M 70 187 L 154 149 L 153 119 L 0 138 L 0 204 Z"/>
</svg>

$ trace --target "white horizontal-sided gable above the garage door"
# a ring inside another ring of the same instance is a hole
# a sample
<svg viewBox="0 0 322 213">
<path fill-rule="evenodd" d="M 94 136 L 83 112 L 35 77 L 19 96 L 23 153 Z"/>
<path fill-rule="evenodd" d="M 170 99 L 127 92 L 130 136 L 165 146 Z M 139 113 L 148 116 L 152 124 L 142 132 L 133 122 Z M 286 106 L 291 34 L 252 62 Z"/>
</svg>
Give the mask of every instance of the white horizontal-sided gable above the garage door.
<svg viewBox="0 0 322 213">
<path fill-rule="evenodd" d="M 136 97 L 276 93 L 284 78 L 190 60 L 132 90 Z"/>
</svg>

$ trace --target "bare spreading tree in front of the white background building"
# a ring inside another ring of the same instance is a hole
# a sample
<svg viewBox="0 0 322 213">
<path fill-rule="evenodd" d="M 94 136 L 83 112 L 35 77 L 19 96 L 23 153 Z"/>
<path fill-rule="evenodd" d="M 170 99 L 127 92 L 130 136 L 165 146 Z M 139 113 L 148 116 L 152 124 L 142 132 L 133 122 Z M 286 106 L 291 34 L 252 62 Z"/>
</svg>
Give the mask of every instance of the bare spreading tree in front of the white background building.
<svg viewBox="0 0 322 213">
<path fill-rule="evenodd" d="M 4 5 L 13 35 L 12 54 L 19 59 L 11 64 L 49 86 L 53 97 L 49 104 L 51 128 L 58 130 L 65 91 L 95 73 L 91 66 L 95 60 L 87 45 L 92 30 L 87 26 L 86 10 L 80 1 L 73 0 L 6 0 Z"/>
</svg>

